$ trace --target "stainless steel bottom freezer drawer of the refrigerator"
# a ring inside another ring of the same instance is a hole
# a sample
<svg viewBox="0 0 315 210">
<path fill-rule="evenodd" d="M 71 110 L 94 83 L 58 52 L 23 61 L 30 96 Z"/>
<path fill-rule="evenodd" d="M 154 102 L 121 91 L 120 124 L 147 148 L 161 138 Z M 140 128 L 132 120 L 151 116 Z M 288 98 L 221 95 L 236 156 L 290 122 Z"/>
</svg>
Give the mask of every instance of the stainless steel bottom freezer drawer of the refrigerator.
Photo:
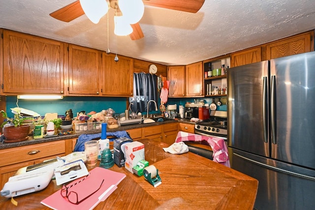
<svg viewBox="0 0 315 210">
<path fill-rule="evenodd" d="M 231 168 L 258 180 L 254 209 L 314 209 L 314 170 L 231 148 L 229 148 L 229 156 L 231 157 Z"/>
</svg>

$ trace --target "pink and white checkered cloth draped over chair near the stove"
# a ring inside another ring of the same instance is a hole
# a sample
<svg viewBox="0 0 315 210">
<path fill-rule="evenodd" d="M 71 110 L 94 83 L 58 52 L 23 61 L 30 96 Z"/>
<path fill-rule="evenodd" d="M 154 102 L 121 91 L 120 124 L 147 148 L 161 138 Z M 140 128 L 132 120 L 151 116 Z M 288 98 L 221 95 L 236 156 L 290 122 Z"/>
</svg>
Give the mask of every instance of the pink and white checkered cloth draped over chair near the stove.
<svg viewBox="0 0 315 210">
<path fill-rule="evenodd" d="M 179 131 L 175 142 L 177 143 L 185 141 L 201 142 L 203 140 L 207 141 L 213 150 L 213 161 L 221 163 L 224 166 L 230 167 L 228 151 L 223 139 Z"/>
</svg>

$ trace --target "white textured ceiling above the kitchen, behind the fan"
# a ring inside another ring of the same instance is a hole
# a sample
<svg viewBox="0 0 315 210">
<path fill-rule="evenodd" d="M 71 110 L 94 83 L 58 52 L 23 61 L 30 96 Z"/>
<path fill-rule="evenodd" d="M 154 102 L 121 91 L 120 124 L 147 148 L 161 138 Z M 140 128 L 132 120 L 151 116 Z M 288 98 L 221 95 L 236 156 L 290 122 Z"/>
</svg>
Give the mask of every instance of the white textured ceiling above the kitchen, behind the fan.
<svg viewBox="0 0 315 210">
<path fill-rule="evenodd" d="M 86 15 L 69 23 L 49 13 L 74 0 L 0 0 L 0 28 L 99 50 L 107 49 L 107 16 L 93 24 Z M 314 0 L 205 0 L 193 14 L 145 6 L 145 37 L 132 41 L 113 32 L 112 53 L 166 65 L 184 65 L 315 29 Z"/>
</svg>

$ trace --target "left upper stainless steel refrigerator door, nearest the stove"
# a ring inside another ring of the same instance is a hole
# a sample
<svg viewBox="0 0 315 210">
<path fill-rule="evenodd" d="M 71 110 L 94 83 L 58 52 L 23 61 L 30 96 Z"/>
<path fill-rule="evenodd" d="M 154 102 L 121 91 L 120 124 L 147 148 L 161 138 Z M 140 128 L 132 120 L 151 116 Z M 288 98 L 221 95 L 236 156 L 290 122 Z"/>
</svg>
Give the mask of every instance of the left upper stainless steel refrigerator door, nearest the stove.
<svg viewBox="0 0 315 210">
<path fill-rule="evenodd" d="M 269 61 L 228 70 L 228 145 L 269 156 Z"/>
</svg>

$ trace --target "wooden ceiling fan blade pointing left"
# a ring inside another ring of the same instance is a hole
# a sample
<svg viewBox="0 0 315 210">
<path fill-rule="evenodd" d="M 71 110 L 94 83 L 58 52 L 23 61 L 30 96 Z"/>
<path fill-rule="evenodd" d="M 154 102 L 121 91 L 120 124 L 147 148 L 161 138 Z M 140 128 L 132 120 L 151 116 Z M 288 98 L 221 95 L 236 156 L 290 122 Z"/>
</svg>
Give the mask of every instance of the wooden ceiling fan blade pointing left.
<svg viewBox="0 0 315 210">
<path fill-rule="evenodd" d="M 57 20 L 61 20 L 64 22 L 70 22 L 81 15 L 84 15 L 84 11 L 81 7 L 80 0 L 76 0 L 63 8 L 60 8 L 56 10 L 55 12 L 52 12 L 49 14 L 53 18 L 56 18 Z"/>
</svg>

